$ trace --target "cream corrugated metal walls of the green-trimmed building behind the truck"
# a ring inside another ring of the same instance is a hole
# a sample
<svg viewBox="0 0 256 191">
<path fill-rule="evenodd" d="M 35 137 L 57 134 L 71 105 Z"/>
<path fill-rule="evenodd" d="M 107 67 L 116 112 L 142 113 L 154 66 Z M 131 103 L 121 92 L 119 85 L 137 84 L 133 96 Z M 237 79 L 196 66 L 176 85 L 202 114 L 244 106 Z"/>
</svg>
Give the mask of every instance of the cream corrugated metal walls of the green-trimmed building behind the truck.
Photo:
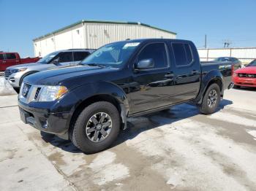
<svg viewBox="0 0 256 191">
<path fill-rule="evenodd" d="M 97 49 L 110 42 L 141 38 L 175 39 L 176 35 L 148 26 L 118 23 L 80 23 L 72 28 L 35 40 L 34 54 L 35 56 L 45 56 L 56 50 L 70 48 Z"/>
</svg>

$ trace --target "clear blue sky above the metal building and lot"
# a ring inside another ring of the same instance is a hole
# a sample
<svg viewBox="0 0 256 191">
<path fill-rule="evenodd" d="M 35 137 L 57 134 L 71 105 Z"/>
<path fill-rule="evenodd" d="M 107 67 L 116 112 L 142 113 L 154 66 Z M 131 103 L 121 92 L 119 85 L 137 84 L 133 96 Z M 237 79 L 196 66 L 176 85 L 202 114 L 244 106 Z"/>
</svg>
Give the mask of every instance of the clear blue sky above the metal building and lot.
<svg viewBox="0 0 256 191">
<path fill-rule="evenodd" d="M 256 47 L 255 0 L 0 0 L 0 50 L 33 56 L 32 39 L 78 20 L 139 21 L 203 47 Z"/>
</svg>

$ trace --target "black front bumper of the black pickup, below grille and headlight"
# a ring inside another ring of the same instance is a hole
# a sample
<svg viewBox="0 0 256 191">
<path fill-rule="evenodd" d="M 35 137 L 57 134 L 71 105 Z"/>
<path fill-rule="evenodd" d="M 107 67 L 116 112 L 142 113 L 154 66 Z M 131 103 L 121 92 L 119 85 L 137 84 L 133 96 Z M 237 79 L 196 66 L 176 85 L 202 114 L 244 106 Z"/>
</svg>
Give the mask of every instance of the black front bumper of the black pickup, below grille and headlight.
<svg viewBox="0 0 256 191">
<path fill-rule="evenodd" d="M 19 101 L 20 119 L 38 130 L 69 139 L 69 112 L 48 113 L 42 109 L 31 108 Z"/>
</svg>

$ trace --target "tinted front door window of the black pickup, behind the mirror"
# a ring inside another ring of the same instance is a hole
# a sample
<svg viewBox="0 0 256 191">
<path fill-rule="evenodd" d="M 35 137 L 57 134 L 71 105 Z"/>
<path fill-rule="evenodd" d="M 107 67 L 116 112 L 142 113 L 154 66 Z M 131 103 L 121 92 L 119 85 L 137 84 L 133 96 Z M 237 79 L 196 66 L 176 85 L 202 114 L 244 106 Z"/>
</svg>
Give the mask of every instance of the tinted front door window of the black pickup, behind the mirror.
<svg viewBox="0 0 256 191">
<path fill-rule="evenodd" d="M 138 55 L 138 61 L 144 59 L 154 60 L 154 69 L 167 67 L 165 43 L 148 44 Z"/>
</svg>

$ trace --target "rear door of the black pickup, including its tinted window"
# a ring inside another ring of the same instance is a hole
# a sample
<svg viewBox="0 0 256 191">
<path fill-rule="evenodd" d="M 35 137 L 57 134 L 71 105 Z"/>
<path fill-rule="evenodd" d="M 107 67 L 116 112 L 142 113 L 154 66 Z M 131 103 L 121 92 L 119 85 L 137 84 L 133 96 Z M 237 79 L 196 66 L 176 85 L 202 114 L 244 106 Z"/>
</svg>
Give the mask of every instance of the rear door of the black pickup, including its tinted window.
<svg viewBox="0 0 256 191">
<path fill-rule="evenodd" d="M 200 90 L 200 61 L 194 44 L 189 42 L 170 43 L 173 52 L 173 78 L 175 83 L 176 102 L 193 99 Z"/>
</svg>

